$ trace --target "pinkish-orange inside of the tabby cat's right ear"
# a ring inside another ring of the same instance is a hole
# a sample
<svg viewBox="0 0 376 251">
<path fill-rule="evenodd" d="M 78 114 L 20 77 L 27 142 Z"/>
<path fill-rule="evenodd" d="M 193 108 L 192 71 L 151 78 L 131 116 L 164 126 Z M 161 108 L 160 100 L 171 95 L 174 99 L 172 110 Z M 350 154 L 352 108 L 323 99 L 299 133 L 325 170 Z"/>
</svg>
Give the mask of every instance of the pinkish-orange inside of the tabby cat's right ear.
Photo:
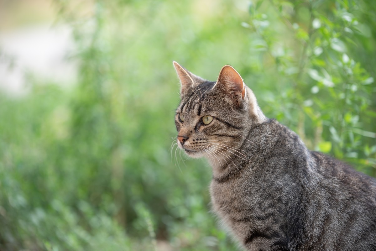
<svg viewBox="0 0 376 251">
<path fill-rule="evenodd" d="M 232 68 L 230 65 L 225 65 L 218 77 L 218 82 L 224 85 L 224 87 L 230 91 L 241 94 L 241 99 L 244 99 L 246 94 L 246 88 L 243 85 L 243 79 L 240 74 Z"/>
</svg>

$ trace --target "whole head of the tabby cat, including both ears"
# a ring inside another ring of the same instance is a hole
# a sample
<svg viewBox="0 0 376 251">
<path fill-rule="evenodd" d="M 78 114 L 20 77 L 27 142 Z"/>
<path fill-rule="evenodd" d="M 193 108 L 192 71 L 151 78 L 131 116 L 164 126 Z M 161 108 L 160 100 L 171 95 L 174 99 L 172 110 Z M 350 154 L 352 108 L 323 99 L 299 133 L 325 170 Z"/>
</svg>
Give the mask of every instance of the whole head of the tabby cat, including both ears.
<svg viewBox="0 0 376 251">
<path fill-rule="evenodd" d="M 173 64 L 181 83 L 177 144 L 189 156 L 223 157 L 240 147 L 250 127 L 265 121 L 255 95 L 231 66 L 211 82 Z"/>
</svg>

